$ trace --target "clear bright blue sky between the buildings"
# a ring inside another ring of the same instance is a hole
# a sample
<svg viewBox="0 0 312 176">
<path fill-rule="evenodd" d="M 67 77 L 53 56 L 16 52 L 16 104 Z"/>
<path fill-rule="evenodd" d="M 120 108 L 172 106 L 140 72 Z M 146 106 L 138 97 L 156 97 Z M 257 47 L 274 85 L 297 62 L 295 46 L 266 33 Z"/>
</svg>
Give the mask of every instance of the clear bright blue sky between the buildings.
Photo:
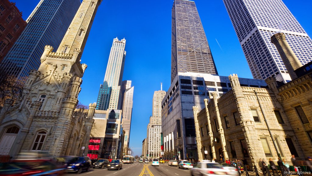
<svg viewBox="0 0 312 176">
<path fill-rule="evenodd" d="M 39 0 L 11 0 L 27 19 Z M 283 0 L 305 31 L 312 35 L 310 0 Z M 222 0 L 195 0 L 219 75 L 236 73 L 252 78 L 251 72 Z M 154 91 L 170 86 L 171 8 L 173 0 L 103 0 L 93 22 L 81 62 L 83 76 L 79 101 L 96 102 L 103 83 L 113 38 L 126 39 L 123 80 L 134 86 L 130 147 L 142 153 L 142 141 L 152 115 Z M 218 45 L 220 44 L 220 46 Z"/>
</svg>

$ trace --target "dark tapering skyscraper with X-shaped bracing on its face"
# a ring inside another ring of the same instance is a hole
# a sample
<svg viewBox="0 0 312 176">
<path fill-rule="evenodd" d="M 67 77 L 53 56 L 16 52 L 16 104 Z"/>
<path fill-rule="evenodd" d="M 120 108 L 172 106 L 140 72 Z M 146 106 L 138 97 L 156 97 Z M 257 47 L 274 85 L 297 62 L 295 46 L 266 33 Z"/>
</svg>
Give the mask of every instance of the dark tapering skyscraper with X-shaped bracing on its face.
<svg viewBox="0 0 312 176">
<path fill-rule="evenodd" d="M 218 74 L 194 1 L 172 7 L 171 82 L 178 73 Z"/>
</svg>

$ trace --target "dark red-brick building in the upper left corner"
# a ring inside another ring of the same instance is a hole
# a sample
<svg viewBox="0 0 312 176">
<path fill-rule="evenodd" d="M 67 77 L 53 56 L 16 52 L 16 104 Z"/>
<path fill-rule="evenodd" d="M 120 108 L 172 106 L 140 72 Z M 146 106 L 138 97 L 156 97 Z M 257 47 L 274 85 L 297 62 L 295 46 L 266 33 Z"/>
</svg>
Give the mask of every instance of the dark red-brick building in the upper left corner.
<svg viewBox="0 0 312 176">
<path fill-rule="evenodd" d="M 15 3 L 0 3 L 0 63 L 27 25 Z"/>
</svg>

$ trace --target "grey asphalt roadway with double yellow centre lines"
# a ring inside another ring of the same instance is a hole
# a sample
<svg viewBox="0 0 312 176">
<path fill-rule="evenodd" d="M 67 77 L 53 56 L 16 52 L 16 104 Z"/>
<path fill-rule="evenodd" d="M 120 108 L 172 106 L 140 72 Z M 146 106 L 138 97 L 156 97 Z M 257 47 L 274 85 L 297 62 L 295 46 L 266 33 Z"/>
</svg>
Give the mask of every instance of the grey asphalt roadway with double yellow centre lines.
<svg viewBox="0 0 312 176">
<path fill-rule="evenodd" d="M 189 169 L 179 169 L 168 166 L 168 163 L 161 163 L 159 166 L 152 166 L 151 163 L 123 164 L 121 170 L 107 170 L 107 168 L 90 168 L 89 172 L 66 173 L 65 176 L 189 176 Z"/>
</svg>

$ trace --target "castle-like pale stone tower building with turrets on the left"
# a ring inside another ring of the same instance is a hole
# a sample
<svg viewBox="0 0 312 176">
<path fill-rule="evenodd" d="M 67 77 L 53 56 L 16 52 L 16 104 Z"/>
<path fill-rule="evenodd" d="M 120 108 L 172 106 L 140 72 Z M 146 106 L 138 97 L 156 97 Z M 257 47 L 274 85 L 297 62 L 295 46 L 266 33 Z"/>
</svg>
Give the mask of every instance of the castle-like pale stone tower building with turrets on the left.
<svg viewBox="0 0 312 176">
<path fill-rule="evenodd" d="M 96 105 L 89 105 L 86 116 L 75 108 L 87 68 L 80 59 L 100 2 L 81 3 L 57 52 L 51 46 L 44 48 L 39 69 L 29 73 L 24 85 L 22 101 L 6 101 L 0 113 L 0 146 L 6 153 L 82 155 L 81 146 L 88 146 Z"/>
</svg>

